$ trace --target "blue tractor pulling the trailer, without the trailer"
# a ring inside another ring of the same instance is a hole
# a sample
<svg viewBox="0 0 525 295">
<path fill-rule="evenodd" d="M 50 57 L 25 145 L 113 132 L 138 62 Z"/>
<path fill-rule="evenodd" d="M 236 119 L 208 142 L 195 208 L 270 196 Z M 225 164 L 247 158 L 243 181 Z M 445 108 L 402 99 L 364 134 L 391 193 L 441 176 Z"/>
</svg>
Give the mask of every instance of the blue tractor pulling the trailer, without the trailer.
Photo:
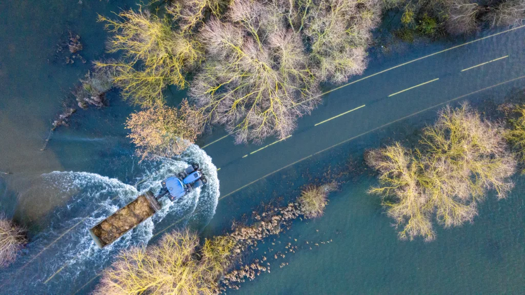
<svg viewBox="0 0 525 295">
<path fill-rule="evenodd" d="M 177 175 L 170 176 L 162 182 L 162 188 L 157 199 L 167 195 L 170 200 L 177 201 L 193 189 L 201 187 L 206 183 L 198 164 L 192 164 Z"/>
</svg>

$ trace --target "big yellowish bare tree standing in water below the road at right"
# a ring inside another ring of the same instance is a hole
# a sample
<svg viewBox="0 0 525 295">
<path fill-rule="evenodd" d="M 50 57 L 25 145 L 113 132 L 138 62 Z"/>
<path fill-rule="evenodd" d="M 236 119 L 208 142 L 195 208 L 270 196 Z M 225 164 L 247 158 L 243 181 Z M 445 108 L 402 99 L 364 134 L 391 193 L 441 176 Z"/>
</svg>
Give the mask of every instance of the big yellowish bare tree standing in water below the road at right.
<svg viewBox="0 0 525 295">
<path fill-rule="evenodd" d="M 502 124 L 482 120 L 467 104 L 439 112 L 423 130 L 420 146 L 399 143 L 365 154 L 379 172 L 379 194 L 400 239 L 435 239 L 432 219 L 445 228 L 472 222 L 488 189 L 499 199 L 512 189 L 516 160 L 502 134 Z"/>
</svg>

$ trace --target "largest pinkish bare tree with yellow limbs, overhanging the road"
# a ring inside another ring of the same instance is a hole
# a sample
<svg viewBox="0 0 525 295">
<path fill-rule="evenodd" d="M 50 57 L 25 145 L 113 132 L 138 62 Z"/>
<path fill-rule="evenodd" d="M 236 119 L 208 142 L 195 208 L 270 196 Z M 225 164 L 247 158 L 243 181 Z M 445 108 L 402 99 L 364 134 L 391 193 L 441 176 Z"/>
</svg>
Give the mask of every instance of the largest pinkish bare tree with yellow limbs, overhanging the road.
<svg viewBox="0 0 525 295">
<path fill-rule="evenodd" d="M 208 122 L 234 133 L 236 143 L 285 138 L 297 117 L 319 102 L 301 38 L 276 13 L 236 0 L 226 22 L 209 20 L 199 36 L 208 61 L 193 81 L 191 98 Z"/>
</svg>

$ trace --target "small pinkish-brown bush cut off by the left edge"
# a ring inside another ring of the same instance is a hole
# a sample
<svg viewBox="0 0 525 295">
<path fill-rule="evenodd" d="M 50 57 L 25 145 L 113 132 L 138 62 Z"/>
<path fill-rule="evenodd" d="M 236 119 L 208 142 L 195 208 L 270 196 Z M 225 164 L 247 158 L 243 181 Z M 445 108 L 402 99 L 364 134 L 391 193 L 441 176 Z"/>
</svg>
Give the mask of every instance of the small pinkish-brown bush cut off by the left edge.
<svg viewBox="0 0 525 295">
<path fill-rule="evenodd" d="M 24 230 L 0 214 L 0 268 L 12 264 L 26 243 Z"/>
</svg>

